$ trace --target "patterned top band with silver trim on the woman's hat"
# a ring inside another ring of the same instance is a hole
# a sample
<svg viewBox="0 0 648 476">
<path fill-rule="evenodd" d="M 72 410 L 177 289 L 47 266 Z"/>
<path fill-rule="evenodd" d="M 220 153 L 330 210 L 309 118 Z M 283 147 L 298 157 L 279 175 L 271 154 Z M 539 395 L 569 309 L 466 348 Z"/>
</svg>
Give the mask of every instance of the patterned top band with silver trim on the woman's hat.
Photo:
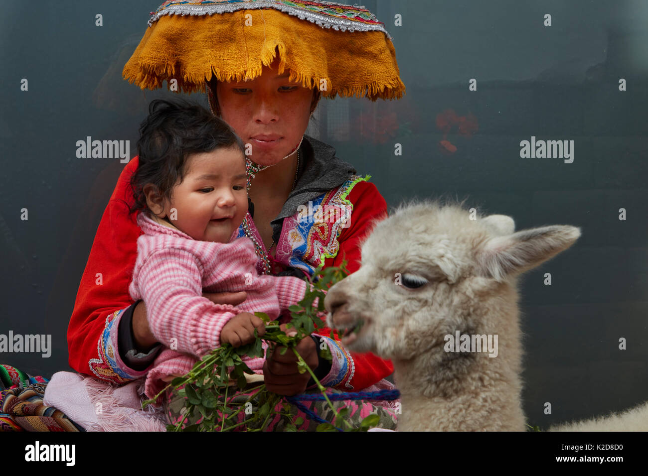
<svg viewBox="0 0 648 476">
<path fill-rule="evenodd" d="M 164 15 L 213 15 L 232 13 L 237 10 L 274 8 L 301 20 L 316 23 L 322 28 L 341 31 L 382 31 L 389 40 L 393 38 L 385 29 L 384 23 L 364 6 L 344 5 L 327 1 L 289 1 L 289 0 L 167 0 L 155 12 L 151 12 L 148 26 L 153 25 Z"/>
</svg>

